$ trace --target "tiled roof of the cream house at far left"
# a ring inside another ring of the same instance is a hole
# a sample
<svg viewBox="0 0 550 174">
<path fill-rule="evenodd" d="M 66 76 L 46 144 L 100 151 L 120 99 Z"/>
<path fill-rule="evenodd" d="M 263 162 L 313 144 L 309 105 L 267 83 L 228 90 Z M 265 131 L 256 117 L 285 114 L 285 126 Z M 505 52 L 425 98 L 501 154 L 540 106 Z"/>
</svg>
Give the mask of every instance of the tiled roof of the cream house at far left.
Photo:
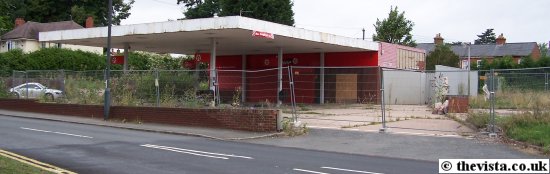
<svg viewBox="0 0 550 174">
<path fill-rule="evenodd" d="M 38 23 L 27 22 L 10 32 L 2 35 L 2 40 L 8 39 L 36 39 L 38 40 L 38 33 L 43 31 L 55 31 L 55 30 L 70 30 L 84 28 L 74 21 L 62 21 L 62 22 L 50 22 L 50 23 Z"/>
</svg>

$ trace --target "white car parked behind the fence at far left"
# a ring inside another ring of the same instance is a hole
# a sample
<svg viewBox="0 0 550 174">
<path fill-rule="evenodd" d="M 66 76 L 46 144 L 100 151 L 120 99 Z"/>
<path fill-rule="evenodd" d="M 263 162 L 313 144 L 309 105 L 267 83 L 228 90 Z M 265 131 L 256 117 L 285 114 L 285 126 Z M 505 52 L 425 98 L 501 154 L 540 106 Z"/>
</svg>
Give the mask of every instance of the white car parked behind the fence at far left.
<svg viewBox="0 0 550 174">
<path fill-rule="evenodd" d="M 57 89 L 49 89 L 40 83 L 24 83 L 19 86 L 10 88 L 9 91 L 15 98 L 39 98 L 46 97 L 48 100 L 55 100 L 63 96 L 63 91 Z"/>
</svg>

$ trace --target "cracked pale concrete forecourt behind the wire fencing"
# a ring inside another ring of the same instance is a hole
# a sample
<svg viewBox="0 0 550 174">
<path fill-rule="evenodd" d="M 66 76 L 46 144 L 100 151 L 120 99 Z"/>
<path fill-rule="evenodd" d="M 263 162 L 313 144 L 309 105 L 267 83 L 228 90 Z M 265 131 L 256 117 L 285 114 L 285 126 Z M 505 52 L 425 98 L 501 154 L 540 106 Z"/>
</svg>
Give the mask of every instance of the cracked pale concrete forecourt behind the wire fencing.
<svg viewBox="0 0 550 174">
<path fill-rule="evenodd" d="M 313 128 L 378 132 L 382 128 L 380 105 L 327 104 L 298 108 L 298 119 Z M 424 105 L 387 105 L 386 126 L 392 133 L 472 136 L 476 131 L 445 115 L 432 114 Z M 287 109 L 285 117 L 291 117 Z"/>
</svg>

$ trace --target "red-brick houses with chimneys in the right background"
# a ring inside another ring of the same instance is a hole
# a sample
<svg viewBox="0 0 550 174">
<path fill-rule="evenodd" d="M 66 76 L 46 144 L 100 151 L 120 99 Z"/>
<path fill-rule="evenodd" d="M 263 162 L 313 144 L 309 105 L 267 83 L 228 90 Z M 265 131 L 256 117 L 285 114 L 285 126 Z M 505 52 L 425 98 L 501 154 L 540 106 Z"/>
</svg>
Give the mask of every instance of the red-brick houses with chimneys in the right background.
<svg viewBox="0 0 550 174">
<path fill-rule="evenodd" d="M 419 43 L 416 48 L 426 50 L 429 54 L 435 49 L 436 45 L 444 44 L 444 39 L 441 34 L 437 34 L 434 38 L 434 43 Z M 460 67 L 468 68 L 468 46 L 467 45 L 451 45 L 453 52 L 460 57 Z M 506 38 L 500 34 L 494 44 L 472 44 L 470 45 L 470 61 L 480 64 L 483 58 L 491 62 L 493 59 L 512 56 L 514 62 L 521 63 L 523 57 L 531 56 L 537 60 L 540 57 L 540 50 L 536 42 L 518 42 L 506 43 Z"/>
</svg>

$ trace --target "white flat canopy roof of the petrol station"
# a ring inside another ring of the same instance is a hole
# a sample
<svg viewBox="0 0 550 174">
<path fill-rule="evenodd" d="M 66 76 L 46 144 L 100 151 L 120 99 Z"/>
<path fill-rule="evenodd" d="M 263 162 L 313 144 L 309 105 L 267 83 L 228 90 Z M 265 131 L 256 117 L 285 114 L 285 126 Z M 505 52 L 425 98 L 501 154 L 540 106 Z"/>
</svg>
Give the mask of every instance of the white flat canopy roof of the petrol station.
<svg viewBox="0 0 550 174">
<path fill-rule="evenodd" d="M 253 37 L 267 32 L 274 39 Z M 217 55 L 377 51 L 378 43 L 277 24 L 241 16 L 178 20 L 112 27 L 112 47 L 157 53 Z M 107 46 L 107 27 L 40 32 L 39 41 L 95 47 Z"/>
</svg>

